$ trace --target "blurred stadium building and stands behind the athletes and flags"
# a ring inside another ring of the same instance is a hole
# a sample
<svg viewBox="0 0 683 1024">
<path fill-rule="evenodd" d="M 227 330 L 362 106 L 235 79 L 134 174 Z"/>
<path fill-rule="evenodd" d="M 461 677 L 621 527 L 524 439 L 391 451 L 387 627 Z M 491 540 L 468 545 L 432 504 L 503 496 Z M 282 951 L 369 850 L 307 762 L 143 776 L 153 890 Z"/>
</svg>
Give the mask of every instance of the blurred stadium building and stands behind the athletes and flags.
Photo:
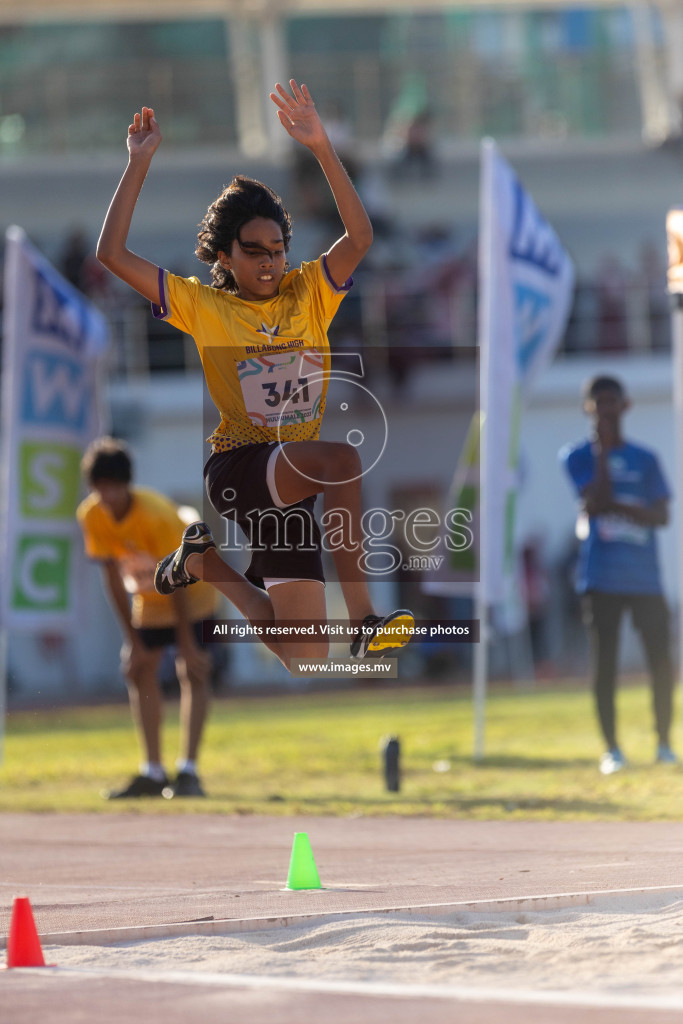
<svg viewBox="0 0 683 1024">
<path fill-rule="evenodd" d="M 176 0 L 0 0 L 0 226 L 23 226 L 106 313 L 113 428 L 133 450 L 138 480 L 201 508 L 211 422 L 203 423 L 191 339 L 153 321 L 93 257 L 135 110 L 155 108 L 164 142 L 131 247 L 207 280 L 194 257 L 197 223 L 236 172 L 285 196 L 295 218 L 292 262 L 315 258 L 336 238 L 319 171 L 291 146 L 267 99 L 276 80 L 308 84 L 375 224 L 372 253 L 331 332 L 337 345 L 389 353 L 378 387 L 400 425 L 401 455 L 382 460 L 368 499 L 409 511 L 445 494 L 476 401 L 478 145 L 494 136 L 578 273 L 561 354 L 523 425 L 518 532 L 537 671 L 581 673 L 574 508 L 556 453 L 585 431 L 579 391 L 587 377 L 625 380 L 634 398 L 627 428 L 657 449 L 674 478 L 665 219 L 683 201 L 683 7 L 190 7 L 188 17 Z M 421 435 L 447 440 L 426 457 Z M 660 540 L 677 601 L 673 530 Z M 94 693 L 116 682 L 118 636 L 94 573 L 84 588 L 91 621 L 71 653 L 63 647 L 55 657 L 54 638 L 45 656 L 17 641 L 16 694 L 53 694 L 65 680 Z M 520 663 L 502 644 L 499 671 L 525 671 L 528 652 Z M 281 678 L 254 656 L 236 649 L 226 679 Z M 637 665 L 630 640 L 626 656 Z M 469 678 L 466 652 L 455 647 L 411 651 L 405 671 Z"/>
</svg>

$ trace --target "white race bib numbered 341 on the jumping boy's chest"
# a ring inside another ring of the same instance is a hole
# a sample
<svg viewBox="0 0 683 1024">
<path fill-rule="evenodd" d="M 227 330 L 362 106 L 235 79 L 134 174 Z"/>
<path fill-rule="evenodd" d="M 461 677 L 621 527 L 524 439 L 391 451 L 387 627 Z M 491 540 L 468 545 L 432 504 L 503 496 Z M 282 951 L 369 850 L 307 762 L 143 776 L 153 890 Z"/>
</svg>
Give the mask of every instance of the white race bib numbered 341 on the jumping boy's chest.
<svg viewBox="0 0 683 1024">
<path fill-rule="evenodd" d="M 319 416 L 323 355 L 316 349 L 254 356 L 238 362 L 245 409 L 252 423 L 276 430 Z"/>
</svg>

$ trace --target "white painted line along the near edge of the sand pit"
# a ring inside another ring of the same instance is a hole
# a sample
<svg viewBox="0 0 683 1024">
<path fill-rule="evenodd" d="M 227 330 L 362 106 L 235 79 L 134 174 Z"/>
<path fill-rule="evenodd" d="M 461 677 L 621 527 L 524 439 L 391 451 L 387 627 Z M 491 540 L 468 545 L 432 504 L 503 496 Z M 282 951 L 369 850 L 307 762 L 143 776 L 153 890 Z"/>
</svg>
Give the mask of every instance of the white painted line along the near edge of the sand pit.
<svg viewBox="0 0 683 1024">
<path fill-rule="evenodd" d="M 40 971 L 44 968 L 24 969 Z M 390 996 L 393 998 L 454 999 L 460 1002 L 515 1002 L 542 1006 L 609 1007 L 640 1010 L 683 1010 L 683 994 L 638 992 L 572 992 L 561 989 L 483 988 L 466 985 L 401 985 L 385 981 L 326 981 L 319 978 L 273 978 L 272 975 L 216 974 L 204 971 L 103 970 L 57 968 L 56 972 L 81 978 L 111 981 L 161 982 L 174 985 L 208 985 L 223 988 L 274 989 L 291 992 L 324 992 L 336 995 Z"/>
</svg>

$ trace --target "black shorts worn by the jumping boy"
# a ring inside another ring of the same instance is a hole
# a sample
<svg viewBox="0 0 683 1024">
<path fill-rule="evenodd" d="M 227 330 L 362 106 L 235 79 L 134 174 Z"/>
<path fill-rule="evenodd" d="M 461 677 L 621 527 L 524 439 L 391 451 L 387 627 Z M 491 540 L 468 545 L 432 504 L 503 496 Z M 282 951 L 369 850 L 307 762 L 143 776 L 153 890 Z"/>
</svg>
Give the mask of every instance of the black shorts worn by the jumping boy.
<svg viewBox="0 0 683 1024">
<path fill-rule="evenodd" d="M 325 583 L 321 530 L 313 516 L 315 495 L 279 509 L 272 504 L 266 467 L 275 442 L 214 452 L 204 467 L 212 506 L 242 528 L 249 542 L 247 579 L 263 588 L 268 578 Z"/>
</svg>

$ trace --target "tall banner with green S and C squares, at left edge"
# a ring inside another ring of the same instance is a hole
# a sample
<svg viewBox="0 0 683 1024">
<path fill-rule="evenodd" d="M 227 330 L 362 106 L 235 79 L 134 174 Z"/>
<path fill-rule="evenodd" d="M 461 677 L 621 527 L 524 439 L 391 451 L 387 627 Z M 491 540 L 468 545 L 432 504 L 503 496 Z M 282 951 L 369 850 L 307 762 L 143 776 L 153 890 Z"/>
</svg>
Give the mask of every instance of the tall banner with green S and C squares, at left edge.
<svg viewBox="0 0 683 1024">
<path fill-rule="evenodd" d="M 69 630 L 82 542 L 75 512 L 84 447 L 102 430 L 104 317 L 10 227 L 2 362 L 3 630 Z"/>
</svg>

